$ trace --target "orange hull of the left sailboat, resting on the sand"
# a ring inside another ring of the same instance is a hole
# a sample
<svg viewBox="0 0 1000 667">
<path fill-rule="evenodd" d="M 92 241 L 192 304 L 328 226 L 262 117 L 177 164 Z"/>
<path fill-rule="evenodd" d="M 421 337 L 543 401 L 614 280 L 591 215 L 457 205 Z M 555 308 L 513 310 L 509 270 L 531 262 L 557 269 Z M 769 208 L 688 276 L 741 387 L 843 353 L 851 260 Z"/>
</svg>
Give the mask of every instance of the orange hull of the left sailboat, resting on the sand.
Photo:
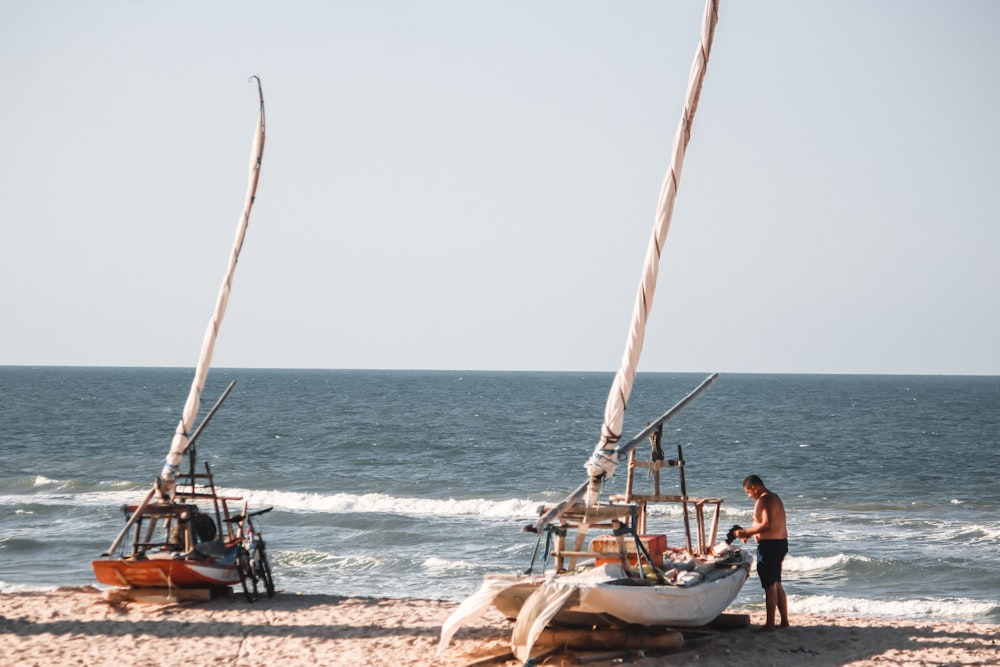
<svg viewBox="0 0 1000 667">
<path fill-rule="evenodd" d="M 97 581 L 108 586 L 135 588 L 216 588 L 240 582 L 236 563 L 163 558 L 91 561 Z"/>
</svg>

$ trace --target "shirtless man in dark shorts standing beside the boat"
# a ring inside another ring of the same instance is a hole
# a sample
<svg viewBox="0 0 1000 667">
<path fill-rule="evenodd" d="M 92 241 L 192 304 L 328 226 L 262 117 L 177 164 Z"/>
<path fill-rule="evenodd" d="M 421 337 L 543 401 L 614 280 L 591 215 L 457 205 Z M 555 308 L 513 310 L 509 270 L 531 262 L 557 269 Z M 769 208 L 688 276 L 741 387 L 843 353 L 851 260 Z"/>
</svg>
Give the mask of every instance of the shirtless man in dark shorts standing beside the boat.
<svg viewBox="0 0 1000 667">
<path fill-rule="evenodd" d="M 781 587 L 781 562 L 788 553 L 788 528 L 785 524 L 785 505 L 777 494 L 769 491 L 757 475 L 743 480 L 743 490 L 756 501 L 753 508 L 753 525 L 735 532 L 744 542 L 757 536 L 757 576 L 764 588 L 764 605 L 767 620 L 761 632 L 775 629 L 774 612 L 781 614 L 782 628 L 788 627 L 788 598 Z"/>
</svg>

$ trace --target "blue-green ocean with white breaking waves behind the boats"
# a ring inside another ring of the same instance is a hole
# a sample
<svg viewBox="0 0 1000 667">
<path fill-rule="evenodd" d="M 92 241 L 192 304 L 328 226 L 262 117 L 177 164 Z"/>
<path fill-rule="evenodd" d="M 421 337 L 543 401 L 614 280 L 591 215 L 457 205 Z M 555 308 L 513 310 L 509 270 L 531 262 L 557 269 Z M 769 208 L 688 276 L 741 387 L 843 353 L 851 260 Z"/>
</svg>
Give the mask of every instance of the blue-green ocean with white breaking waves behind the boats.
<svg viewBox="0 0 1000 667">
<path fill-rule="evenodd" d="M 626 436 L 704 376 L 639 373 Z M 612 377 L 213 369 L 202 415 L 236 386 L 198 458 L 274 507 L 259 525 L 279 590 L 459 601 L 527 567 L 521 527 L 584 481 Z M 0 592 L 96 585 L 90 560 L 159 473 L 191 378 L 0 367 Z M 666 425 L 677 445 L 688 493 L 725 499 L 721 533 L 750 521 L 746 475 L 783 498 L 793 615 L 1000 623 L 1000 377 L 722 374 Z M 622 466 L 608 490 L 624 484 Z M 752 576 L 732 609 L 762 608 Z"/>
</svg>

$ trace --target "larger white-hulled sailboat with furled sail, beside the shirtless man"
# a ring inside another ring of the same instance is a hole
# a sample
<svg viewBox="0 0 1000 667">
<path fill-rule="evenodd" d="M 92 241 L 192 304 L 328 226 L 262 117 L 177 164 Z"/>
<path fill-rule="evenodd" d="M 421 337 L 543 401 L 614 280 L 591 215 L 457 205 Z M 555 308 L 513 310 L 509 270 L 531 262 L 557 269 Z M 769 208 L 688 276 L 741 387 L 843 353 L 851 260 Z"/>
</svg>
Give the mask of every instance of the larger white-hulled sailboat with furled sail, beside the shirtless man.
<svg viewBox="0 0 1000 667">
<path fill-rule="evenodd" d="M 605 406 L 600 439 L 585 466 L 588 479 L 561 503 L 540 510 L 539 519 L 527 528 L 537 533 L 539 540 L 531 567 L 523 574 L 488 575 L 481 588 L 442 626 L 439 652 L 446 649 L 462 625 L 491 606 L 516 619 L 511 643 L 520 660 L 528 660 L 533 645 L 550 623 L 591 628 L 702 626 L 716 619 L 732 603 L 748 577 L 752 557 L 732 544 L 731 532 L 725 542 L 717 541 L 722 500 L 689 496 L 681 447 L 678 446 L 677 458 L 669 460 L 661 448 L 663 424 L 707 390 L 716 376 L 706 378 L 635 438 L 625 444 L 621 442 L 625 407 L 653 306 L 660 255 L 670 228 L 717 20 L 718 0 L 707 0 L 701 39 L 674 137 L 670 168 L 660 192 L 625 353 Z M 639 460 L 636 447 L 647 438 L 652 442 L 650 459 Z M 626 460 L 629 464 L 626 492 L 602 499 L 605 482 Z M 679 495 L 663 494 L 659 488 L 660 472 L 669 468 L 679 471 Z M 649 471 L 654 482 L 652 493 L 636 493 L 638 469 Z M 647 525 L 647 509 L 663 503 L 681 506 L 686 533 L 683 546 L 669 548 L 666 535 L 655 534 Z M 706 510 L 711 518 L 710 527 Z M 696 539 L 692 538 L 690 512 L 696 520 Z M 610 529 L 611 534 L 594 538 L 590 548 L 585 549 L 591 529 Z M 576 533 L 572 544 L 568 542 L 571 532 Z M 539 554 L 542 567 L 536 573 Z M 546 572 L 550 561 L 553 569 Z"/>
</svg>

